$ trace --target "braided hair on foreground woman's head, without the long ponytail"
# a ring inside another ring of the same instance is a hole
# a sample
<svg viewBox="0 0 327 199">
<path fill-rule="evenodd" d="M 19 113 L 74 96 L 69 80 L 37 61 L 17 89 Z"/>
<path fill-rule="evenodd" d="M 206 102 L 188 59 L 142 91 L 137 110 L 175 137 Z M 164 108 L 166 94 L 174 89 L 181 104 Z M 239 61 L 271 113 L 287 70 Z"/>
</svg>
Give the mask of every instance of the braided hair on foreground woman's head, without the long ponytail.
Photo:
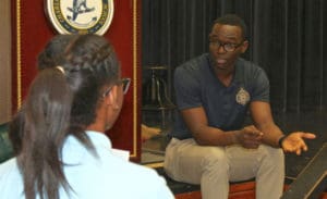
<svg viewBox="0 0 327 199">
<path fill-rule="evenodd" d="M 80 132 L 95 121 L 100 90 L 119 78 L 120 65 L 113 47 L 97 35 L 76 37 L 64 54 L 63 69 L 74 92 L 71 127 Z"/>
</svg>

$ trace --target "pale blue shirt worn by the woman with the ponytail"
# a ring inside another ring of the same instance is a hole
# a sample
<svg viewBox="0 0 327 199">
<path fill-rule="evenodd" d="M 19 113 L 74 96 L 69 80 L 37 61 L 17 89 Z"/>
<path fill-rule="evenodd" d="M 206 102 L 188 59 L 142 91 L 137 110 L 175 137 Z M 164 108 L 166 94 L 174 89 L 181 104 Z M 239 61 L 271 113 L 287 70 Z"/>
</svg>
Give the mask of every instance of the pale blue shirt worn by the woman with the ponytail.
<svg viewBox="0 0 327 199">
<path fill-rule="evenodd" d="M 64 174 L 73 190 L 60 189 L 60 198 L 70 199 L 170 199 L 174 198 L 165 178 L 156 171 L 128 162 L 112 152 L 110 139 L 86 132 L 98 158 L 76 138 L 69 136 L 62 149 Z M 125 156 L 125 154 L 124 154 Z M 126 158 L 126 157 L 125 157 Z M 16 159 L 0 164 L 0 199 L 25 198 Z"/>
</svg>

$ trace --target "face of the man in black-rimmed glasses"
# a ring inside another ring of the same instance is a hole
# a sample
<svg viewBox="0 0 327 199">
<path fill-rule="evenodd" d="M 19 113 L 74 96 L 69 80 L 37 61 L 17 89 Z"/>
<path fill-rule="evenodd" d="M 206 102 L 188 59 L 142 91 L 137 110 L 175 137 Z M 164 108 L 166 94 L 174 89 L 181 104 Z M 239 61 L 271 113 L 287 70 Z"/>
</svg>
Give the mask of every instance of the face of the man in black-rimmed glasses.
<svg viewBox="0 0 327 199">
<path fill-rule="evenodd" d="M 239 26 L 215 24 L 209 34 L 209 53 L 217 73 L 234 70 L 238 57 L 247 49 Z"/>
</svg>

